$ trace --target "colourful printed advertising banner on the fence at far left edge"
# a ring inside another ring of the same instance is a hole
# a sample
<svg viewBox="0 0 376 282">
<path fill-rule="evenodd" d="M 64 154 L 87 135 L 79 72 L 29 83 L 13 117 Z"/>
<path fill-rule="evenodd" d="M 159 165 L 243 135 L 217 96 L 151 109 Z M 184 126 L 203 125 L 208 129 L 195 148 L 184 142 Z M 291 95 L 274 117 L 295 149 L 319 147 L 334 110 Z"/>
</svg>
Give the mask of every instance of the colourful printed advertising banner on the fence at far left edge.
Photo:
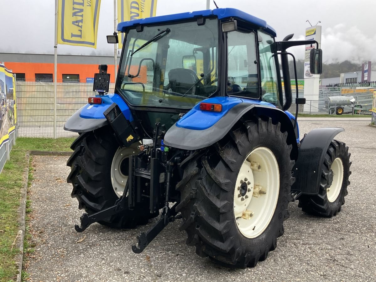
<svg viewBox="0 0 376 282">
<path fill-rule="evenodd" d="M 0 64 L 0 147 L 15 129 L 16 114 L 15 79 L 11 71 Z"/>
</svg>

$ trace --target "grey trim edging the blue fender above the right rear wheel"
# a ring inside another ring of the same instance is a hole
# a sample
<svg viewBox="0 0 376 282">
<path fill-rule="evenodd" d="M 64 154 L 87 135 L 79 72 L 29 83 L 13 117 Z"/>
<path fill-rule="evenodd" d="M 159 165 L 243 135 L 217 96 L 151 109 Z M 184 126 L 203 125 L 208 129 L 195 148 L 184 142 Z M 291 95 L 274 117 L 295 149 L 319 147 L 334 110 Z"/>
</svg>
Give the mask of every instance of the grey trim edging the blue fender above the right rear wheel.
<svg viewBox="0 0 376 282">
<path fill-rule="evenodd" d="M 222 139 L 231 127 L 244 114 L 253 108 L 265 108 L 271 111 L 280 111 L 276 108 L 270 108 L 262 105 L 250 103 L 240 103 L 233 106 L 220 120 L 214 125 L 204 130 L 193 130 L 177 127 L 176 124 L 171 126 L 165 134 L 164 144 L 183 150 L 197 150 L 208 147 Z M 283 113 L 283 112 L 282 112 Z M 283 113 L 284 114 L 284 113 Z"/>
</svg>

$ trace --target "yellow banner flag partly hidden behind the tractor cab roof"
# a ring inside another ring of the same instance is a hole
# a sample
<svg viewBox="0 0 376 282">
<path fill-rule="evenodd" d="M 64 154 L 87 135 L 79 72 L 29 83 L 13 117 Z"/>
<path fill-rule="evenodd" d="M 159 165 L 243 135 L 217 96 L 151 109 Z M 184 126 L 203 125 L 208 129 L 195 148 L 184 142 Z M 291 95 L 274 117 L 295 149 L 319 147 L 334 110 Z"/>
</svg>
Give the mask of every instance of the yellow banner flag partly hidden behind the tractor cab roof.
<svg viewBox="0 0 376 282">
<path fill-rule="evenodd" d="M 118 0 L 118 23 L 155 17 L 157 0 Z M 119 33 L 119 49 L 123 48 L 124 33 Z"/>
</svg>

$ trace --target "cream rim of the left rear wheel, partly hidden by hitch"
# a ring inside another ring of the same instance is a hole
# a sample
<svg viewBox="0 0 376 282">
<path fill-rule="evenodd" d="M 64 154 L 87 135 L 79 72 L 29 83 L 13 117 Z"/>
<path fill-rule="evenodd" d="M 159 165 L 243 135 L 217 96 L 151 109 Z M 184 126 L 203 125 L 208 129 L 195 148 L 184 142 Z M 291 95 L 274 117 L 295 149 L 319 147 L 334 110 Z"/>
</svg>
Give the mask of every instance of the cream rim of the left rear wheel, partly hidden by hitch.
<svg viewBox="0 0 376 282">
<path fill-rule="evenodd" d="M 132 148 L 121 148 L 117 149 L 111 164 L 111 183 L 115 194 L 120 197 L 123 196 L 125 185 L 128 180 L 128 173 L 122 173 L 121 164 L 123 161 L 128 161 L 129 156 L 135 154 Z M 123 168 L 124 170 L 124 168 Z"/>
</svg>

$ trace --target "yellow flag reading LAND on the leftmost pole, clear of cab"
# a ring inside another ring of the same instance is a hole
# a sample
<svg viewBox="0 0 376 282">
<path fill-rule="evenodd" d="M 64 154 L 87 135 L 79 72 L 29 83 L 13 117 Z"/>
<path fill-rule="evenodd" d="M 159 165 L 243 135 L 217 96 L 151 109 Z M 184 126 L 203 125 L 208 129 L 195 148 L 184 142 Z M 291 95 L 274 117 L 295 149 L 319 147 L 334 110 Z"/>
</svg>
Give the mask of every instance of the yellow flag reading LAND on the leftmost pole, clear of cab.
<svg viewBox="0 0 376 282">
<path fill-rule="evenodd" d="M 59 0 L 58 44 L 97 48 L 101 0 Z"/>
</svg>

